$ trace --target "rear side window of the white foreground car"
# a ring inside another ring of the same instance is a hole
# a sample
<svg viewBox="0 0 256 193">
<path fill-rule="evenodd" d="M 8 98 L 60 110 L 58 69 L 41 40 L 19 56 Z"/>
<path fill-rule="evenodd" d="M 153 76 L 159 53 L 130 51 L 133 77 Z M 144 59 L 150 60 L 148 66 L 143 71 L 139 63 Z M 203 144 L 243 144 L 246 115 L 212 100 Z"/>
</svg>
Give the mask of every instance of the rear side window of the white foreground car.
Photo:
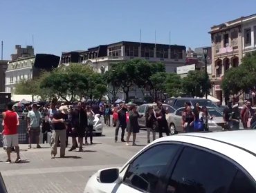
<svg viewBox="0 0 256 193">
<path fill-rule="evenodd" d="M 236 172 L 237 167 L 223 157 L 188 147 L 176 163 L 167 192 L 224 193 Z"/>
</svg>

